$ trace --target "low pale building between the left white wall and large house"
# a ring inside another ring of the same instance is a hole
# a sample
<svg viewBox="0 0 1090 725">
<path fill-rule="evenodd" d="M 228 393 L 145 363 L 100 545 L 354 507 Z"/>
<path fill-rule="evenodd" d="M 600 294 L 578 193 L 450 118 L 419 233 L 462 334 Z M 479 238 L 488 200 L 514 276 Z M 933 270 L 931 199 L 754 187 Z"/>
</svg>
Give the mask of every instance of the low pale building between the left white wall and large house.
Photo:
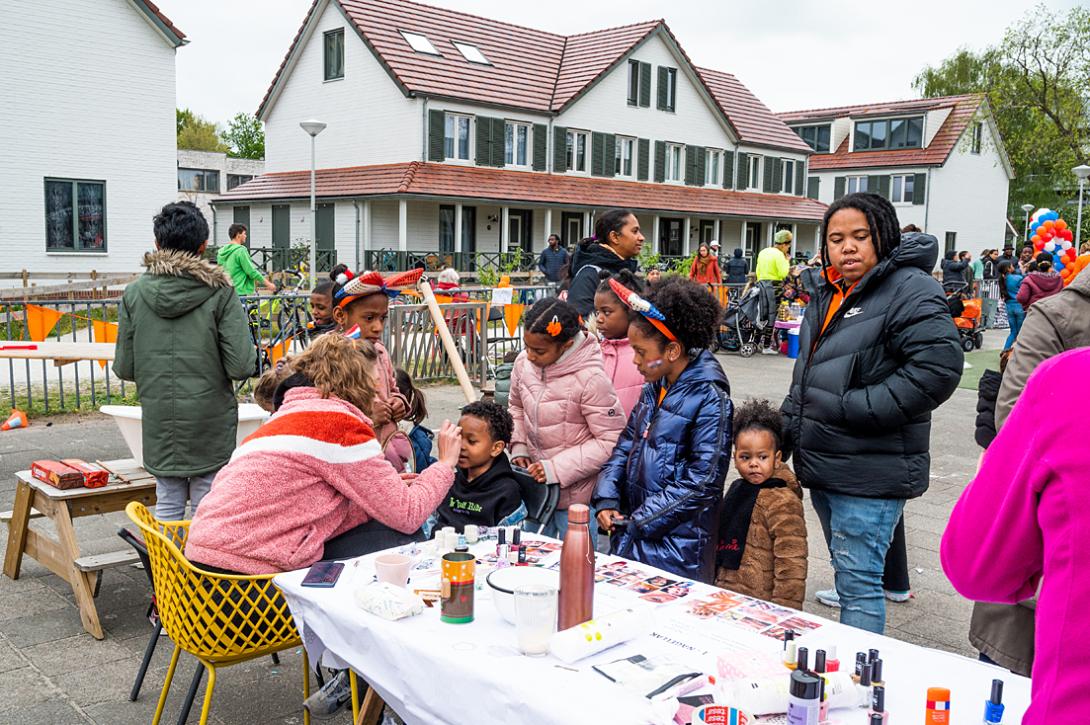
<svg viewBox="0 0 1090 725">
<path fill-rule="evenodd" d="M 244 184 L 265 171 L 262 159 L 232 158 L 217 152 L 178 149 L 178 200 L 193 202 L 208 220 L 209 243 L 226 244 L 227 230 L 235 221 L 250 227 L 244 215 L 223 219 L 216 215 L 213 198 Z"/>
</svg>

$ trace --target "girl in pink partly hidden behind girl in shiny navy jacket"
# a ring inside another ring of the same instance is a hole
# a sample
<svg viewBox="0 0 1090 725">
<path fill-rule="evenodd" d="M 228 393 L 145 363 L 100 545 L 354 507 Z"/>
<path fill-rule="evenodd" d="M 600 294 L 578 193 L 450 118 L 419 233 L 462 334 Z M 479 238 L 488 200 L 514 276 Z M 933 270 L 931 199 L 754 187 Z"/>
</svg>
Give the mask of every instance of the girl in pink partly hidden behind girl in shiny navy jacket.
<svg viewBox="0 0 1090 725">
<path fill-rule="evenodd" d="M 614 277 L 628 289 L 643 294 L 643 285 L 628 269 L 620 270 Z M 598 335 L 602 336 L 602 362 L 606 377 L 613 382 L 617 399 L 628 416 L 640 401 L 643 375 L 632 362 L 632 346 L 628 341 L 628 306 L 609 287 L 608 273 L 598 275 L 598 278 L 602 281 L 594 293 L 594 316 Z"/>
</svg>

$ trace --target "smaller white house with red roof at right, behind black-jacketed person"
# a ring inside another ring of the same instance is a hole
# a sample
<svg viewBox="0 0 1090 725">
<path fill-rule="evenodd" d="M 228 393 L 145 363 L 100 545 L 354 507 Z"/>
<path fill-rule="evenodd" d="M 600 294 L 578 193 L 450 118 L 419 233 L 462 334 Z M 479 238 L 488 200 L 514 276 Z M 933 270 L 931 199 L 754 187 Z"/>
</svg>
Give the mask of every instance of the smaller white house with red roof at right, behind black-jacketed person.
<svg viewBox="0 0 1090 725">
<path fill-rule="evenodd" d="M 814 149 L 807 194 L 831 204 L 877 192 L 945 250 L 1003 245 L 1014 173 L 983 96 L 779 113 Z"/>
</svg>

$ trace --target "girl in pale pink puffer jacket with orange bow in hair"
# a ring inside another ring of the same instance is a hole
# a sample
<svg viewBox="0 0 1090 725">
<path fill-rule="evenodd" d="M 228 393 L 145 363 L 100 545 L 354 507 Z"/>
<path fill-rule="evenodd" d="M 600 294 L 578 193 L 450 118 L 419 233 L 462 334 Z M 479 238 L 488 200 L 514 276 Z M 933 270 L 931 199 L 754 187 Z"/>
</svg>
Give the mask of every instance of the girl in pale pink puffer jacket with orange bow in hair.
<svg viewBox="0 0 1090 725">
<path fill-rule="evenodd" d="M 540 300 L 523 325 L 525 349 L 511 371 L 511 457 L 538 483 L 560 484 L 556 515 L 543 533 L 564 539 L 568 506 L 590 505 L 598 469 L 625 428 L 625 411 L 602 366 L 602 348 L 582 330 L 574 307 Z"/>
</svg>

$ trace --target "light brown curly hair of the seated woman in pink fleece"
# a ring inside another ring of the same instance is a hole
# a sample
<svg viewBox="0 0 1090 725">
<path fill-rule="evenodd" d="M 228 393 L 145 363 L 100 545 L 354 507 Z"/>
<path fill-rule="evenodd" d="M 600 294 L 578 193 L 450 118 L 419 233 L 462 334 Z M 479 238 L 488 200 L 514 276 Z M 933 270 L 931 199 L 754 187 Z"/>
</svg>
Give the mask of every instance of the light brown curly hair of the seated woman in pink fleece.
<svg viewBox="0 0 1090 725">
<path fill-rule="evenodd" d="M 286 367 L 306 377 L 323 398 L 346 400 L 366 414 L 375 399 L 375 363 L 378 352 L 366 340 L 323 335 Z"/>
</svg>

